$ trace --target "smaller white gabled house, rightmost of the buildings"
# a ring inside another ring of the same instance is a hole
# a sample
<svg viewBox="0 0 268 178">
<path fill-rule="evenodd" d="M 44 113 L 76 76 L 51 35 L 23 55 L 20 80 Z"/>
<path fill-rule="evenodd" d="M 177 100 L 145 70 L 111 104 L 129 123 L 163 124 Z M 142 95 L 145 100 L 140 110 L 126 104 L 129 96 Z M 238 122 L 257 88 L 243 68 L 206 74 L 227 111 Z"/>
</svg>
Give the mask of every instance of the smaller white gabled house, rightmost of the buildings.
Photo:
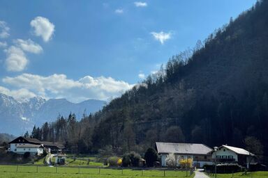
<svg viewBox="0 0 268 178">
<path fill-rule="evenodd" d="M 212 159 L 217 163 L 238 163 L 239 165 L 249 167 L 249 164 L 255 163 L 255 155 L 246 149 L 222 145 L 216 151 L 211 152 Z"/>
</svg>

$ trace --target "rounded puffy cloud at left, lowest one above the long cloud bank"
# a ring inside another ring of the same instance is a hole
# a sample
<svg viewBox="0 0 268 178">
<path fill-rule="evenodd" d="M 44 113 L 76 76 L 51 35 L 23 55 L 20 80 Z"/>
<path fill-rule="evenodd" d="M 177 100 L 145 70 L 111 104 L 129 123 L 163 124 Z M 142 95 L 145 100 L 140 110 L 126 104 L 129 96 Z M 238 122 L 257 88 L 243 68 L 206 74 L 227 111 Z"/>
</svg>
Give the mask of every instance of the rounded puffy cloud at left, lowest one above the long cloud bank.
<svg viewBox="0 0 268 178">
<path fill-rule="evenodd" d="M 11 46 L 6 51 L 6 68 L 8 71 L 19 72 L 27 66 L 28 60 L 19 47 Z"/>
</svg>

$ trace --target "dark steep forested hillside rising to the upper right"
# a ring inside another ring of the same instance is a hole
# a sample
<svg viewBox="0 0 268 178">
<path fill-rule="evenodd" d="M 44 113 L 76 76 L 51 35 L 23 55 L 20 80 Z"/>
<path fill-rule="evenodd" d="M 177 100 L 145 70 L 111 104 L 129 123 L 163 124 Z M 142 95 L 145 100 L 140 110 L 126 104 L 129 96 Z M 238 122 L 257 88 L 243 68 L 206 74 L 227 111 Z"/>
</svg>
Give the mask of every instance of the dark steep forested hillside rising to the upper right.
<svg viewBox="0 0 268 178">
<path fill-rule="evenodd" d="M 103 110 L 80 121 L 59 116 L 31 136 L 86 153 L 144 152 L 156 141 L 228 144 L 267 161 L 267 68 L 268 1 L 258 1 Z"/>
</svg>

